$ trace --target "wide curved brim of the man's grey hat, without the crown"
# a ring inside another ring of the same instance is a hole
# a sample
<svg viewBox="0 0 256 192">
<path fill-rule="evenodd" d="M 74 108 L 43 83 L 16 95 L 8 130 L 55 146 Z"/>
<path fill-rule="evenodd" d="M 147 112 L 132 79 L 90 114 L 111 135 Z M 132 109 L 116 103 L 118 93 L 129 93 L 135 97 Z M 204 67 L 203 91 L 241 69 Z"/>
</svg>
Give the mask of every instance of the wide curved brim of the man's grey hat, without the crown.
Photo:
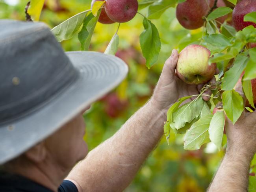
<svg viewBox="0 0 256 192">
<path fill-rule="evenodd" d="M 112 55 L 87 51 L 66 54 L 79 70 L 79 78 L 40 109 L 0 126 L 0 164 L 54 133 L 121 83 L 128 72 L 124 61 Z"/>
</svg>

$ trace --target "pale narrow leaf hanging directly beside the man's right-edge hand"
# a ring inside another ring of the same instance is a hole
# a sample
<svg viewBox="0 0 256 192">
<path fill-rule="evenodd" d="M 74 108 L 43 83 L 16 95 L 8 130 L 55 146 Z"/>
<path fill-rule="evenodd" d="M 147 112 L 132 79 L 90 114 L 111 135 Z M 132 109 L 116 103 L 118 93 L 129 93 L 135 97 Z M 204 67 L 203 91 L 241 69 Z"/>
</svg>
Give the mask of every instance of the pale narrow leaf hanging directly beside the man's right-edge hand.
<svg viewBox="0 0 256 192">
<path fill-rule="evenodd" d="M 217 146 L 219 151 L 222 146 L 223 131 L 225 126 L 225 114 L 224 111 L 217 111 L 213 114 L 210 122 L 209 135 L 210 140 Z"/>
</svg>

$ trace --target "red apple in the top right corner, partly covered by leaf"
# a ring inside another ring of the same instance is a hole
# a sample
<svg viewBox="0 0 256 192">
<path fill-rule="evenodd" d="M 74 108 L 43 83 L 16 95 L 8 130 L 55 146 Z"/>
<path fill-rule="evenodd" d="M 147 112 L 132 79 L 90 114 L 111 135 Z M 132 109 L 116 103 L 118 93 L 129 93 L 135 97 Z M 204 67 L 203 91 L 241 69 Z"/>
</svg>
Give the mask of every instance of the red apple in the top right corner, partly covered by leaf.
<svg viewBox="0 0 256 192">
<path fill-rule="evenodd" d="M 235 6 L 232 14 L 232 20 L 233 20 L 234 28 L 236 29 L 236 31 L 240 31 L 249 25 L 256 27 L 256 23 L 254 22 L 243 21 L 243 17 L 247 13 L 251 13 L 253 11 L 256 11 L 255 0 L 243 0 Z"/>
</svg>

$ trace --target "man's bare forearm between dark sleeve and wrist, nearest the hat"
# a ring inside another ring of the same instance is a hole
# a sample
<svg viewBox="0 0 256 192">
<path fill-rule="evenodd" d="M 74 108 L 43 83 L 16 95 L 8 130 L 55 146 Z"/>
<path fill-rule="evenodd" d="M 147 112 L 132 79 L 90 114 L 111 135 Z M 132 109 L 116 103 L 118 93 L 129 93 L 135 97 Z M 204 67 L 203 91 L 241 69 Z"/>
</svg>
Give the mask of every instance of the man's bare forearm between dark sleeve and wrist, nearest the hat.
<svg viewBox="0 0 256 192">
<path fill-rule="evenodd" d="M 163 135 L 165 114 L 145 104 L 70 172 L 84 191 L 122 191 Z"/>
</svg>

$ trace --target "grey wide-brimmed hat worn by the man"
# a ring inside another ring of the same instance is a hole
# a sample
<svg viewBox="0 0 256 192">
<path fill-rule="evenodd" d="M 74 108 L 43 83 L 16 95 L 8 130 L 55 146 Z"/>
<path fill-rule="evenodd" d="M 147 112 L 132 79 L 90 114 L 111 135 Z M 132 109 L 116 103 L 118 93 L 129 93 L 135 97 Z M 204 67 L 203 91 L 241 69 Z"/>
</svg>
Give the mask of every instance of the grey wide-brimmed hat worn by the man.
<svg viewBox="0 0 256 192">
<path fill-rule="evenodd" d="M 112 55 L 64 52 L 41 22 L 0 20 L 0 164 L 50 136 L 127 72 Z"/>
</svg>

